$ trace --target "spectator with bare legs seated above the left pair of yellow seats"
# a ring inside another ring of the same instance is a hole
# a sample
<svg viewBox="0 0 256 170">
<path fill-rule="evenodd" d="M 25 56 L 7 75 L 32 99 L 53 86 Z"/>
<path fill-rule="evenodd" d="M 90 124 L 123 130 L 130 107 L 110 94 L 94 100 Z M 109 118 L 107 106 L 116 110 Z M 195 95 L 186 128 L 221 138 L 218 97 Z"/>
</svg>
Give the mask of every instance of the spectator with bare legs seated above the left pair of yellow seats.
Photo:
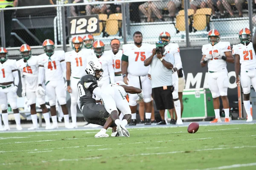
<svg viewBox="0 0 256 170">
<path fill-rule="evenodd" d="M 107 1 L 107 0 L 84 0 L 84 2 L 96 2 L 96 1 Z M 107 4 L 97 4 L 97 5 L 86 5 L 86 15 L 91 14 L 105 14 L 106 10 L 110 7 L 110 5 Z"/>
</svg>

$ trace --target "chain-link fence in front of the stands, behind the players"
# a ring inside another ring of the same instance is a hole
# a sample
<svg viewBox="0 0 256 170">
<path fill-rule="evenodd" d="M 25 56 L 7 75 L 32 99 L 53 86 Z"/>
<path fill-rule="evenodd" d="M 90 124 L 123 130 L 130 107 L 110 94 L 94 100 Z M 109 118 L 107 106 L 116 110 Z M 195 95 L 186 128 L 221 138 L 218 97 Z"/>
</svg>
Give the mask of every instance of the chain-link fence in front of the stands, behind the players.
<svg viewBox="0 0 256 170">
<path fill-rule="evenodd" d="M 29 7 L 35 5 L 48 6 Z M 232 44 L 239 40 L 241 28 L 253 32 L 256 24 L 254 0 L 22 0 L 20 6 L 13 8 L 16 12 L 0 8 L 0 19 L 8 25 L 0 27 L 1 37 L 3 32 L 6 37 L 2 46 L 37 46 L 45 39 L 70 46 L 73 36 L 86 34 L 107 45 L 113 38 L 130 43 L 135 31 L 143 33 L 143 42 L 154 43 L 167 31 L 181 47 L 201 46 L 213 28 Z M 11 23 L 6 14 L 14 16 Z"/>
</svg>

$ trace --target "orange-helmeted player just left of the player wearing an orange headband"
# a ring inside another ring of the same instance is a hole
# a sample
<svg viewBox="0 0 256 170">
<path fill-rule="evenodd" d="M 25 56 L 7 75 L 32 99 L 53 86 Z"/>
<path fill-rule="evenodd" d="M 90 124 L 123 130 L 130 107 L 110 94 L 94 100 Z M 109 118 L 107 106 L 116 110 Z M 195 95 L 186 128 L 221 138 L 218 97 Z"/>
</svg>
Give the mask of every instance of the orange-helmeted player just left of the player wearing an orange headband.
<svg viewBox="0 0 256 170">
<path fill-rule="evenodd" d="M 113 60 L 110 54 L 104 52 L 105 44 L 102 41 L 97 40 L 93 43 L 93 49 L 104 70 L 102 79 L 98 83 L 99 87 L 114 83 L 115 73 L 113 68 Z"/>
</svg>

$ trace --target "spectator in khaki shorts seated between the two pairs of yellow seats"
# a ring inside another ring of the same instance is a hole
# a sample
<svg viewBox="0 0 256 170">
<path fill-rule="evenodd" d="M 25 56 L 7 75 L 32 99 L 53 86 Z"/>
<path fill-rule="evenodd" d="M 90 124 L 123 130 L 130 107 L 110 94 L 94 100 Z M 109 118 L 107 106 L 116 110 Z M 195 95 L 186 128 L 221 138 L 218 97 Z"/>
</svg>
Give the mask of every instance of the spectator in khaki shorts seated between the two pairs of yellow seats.
<svg viewBox="0 0 256 170">
<path fill-rule="evenodd" d="M 164 21 L 163 16 L 160 12 L 161 9 L 166 8 L 168 4 L 167 0 L 164 1 L 155 1 L 151 2 L 148 1 L 146 3 L 143 3 L 139 6 L 139 10 L 148 17 L 147 22 L 153 22 L 151 15 L 152 12 L 156 15 L 159 21 Z"/>
</svg>

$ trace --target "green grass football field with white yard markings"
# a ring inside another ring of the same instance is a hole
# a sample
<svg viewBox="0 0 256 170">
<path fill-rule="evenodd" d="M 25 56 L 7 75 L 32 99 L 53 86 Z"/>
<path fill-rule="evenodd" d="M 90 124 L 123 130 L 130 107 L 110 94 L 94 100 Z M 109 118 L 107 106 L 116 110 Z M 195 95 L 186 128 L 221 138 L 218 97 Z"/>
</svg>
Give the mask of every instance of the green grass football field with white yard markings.
<svg viewBox="0 0 256 170">
<path fill-rule="evenodd" d="M 101 139 L 94 138 L 98 130 L 0 133 L 0 169 L 185 170 L 256 162 L 256 125 L 201 126 L 194 134 L 186 127 L 128 130 L 129 138 Z"/>
</svg>

